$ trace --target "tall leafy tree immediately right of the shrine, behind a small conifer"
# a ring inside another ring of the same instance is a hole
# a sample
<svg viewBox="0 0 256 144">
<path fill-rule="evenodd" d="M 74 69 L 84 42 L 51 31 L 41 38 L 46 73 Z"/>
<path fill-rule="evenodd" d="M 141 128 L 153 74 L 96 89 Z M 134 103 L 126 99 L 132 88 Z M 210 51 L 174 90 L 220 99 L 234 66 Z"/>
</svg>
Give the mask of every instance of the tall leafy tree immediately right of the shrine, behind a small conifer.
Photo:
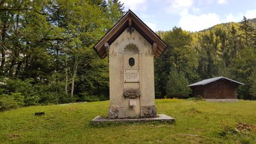
<svg viewBox="0 0 256 144">
<path fill-rule="evenodd" d="M 160 58 L 156 60 L 156 93 L 163 97 L 166 95 L 166 84 L 170 80 L 171 68 L 179 74 L 184 74 L 186 81 L 195 82 L 198 79 L 196 73 L 197 53 L 192 47 L 192 36 L 188 31 L 174 27 L 172 31 L 163 35 L 163 40 L 169 46 Z"/>
</svg>

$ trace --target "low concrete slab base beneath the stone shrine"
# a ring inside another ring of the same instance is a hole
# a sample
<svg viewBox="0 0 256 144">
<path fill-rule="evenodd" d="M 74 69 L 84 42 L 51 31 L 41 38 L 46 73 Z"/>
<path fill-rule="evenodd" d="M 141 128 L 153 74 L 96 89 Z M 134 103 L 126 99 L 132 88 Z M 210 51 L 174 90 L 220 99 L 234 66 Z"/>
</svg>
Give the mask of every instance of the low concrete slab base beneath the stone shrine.
<svg viewBox="0 0 256 144">
<path fill-rule="evenodd" d="M 96 116 L 91 121 L 92 124 L 104 124 L 104 123 L 146 123 L 146 122 L 166 122 L 168 124 L 172 124 L 175 122 L 175 118 L 172 118 L 168 115 L 157 115 L 156 118 L 102 118 L 100 116 Z"/>
</svg>

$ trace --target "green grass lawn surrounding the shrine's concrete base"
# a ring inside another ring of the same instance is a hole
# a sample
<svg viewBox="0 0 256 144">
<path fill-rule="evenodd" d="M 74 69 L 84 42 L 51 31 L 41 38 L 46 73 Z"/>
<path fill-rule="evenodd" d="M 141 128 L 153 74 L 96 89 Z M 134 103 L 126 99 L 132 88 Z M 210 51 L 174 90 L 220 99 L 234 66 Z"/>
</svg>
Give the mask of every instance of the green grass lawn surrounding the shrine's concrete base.
<svg viewBox="0 0 256 144">
<path fill-rule="evenodd" d="M 239 122 L 256 125 L 256 101 L 156 100 L 157 113 L 175 124 L 92 127 L 108 115 L 109 101 L 31 106 L 0 113 L 0 143 L 256 143 L 256 129 L 236 131 Z M 35 116 L 44 111 L 44 116 Z"/>
</svg>

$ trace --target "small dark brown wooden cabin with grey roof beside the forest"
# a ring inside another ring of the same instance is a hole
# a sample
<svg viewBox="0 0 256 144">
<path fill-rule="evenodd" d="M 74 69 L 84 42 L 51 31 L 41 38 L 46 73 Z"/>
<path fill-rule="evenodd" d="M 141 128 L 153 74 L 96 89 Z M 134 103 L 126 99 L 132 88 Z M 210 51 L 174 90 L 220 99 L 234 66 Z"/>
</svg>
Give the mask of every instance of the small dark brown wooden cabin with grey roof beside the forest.
<svg viewBox="0 0 256 144">
<path fill-rule="evenodd" d="M 204 99 L 236 99 L 238 81 L 227 77 L 214 77 L 188 85 L 193 90 L 194 97 L 200 95 Z"/>
</svg>

